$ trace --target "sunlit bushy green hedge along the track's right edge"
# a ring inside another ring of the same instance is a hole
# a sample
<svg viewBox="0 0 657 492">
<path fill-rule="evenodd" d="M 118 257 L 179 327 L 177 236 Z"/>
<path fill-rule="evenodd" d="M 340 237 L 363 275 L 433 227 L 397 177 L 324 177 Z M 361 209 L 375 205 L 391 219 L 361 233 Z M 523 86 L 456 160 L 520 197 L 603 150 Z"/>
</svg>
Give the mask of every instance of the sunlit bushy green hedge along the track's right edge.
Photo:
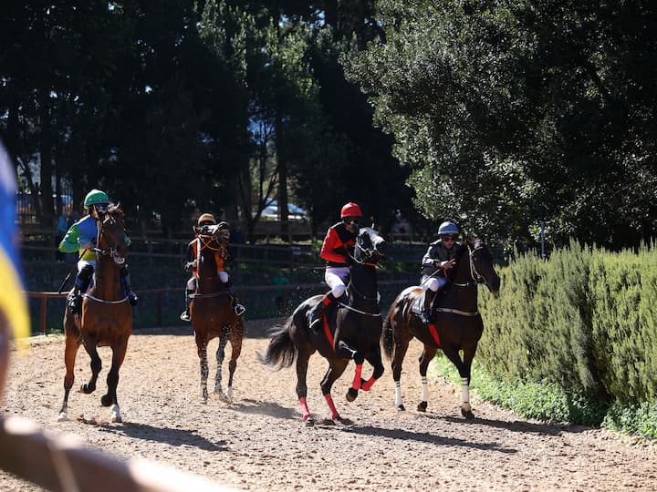
<svg viewBox="0 0 657 492">
<path fill-rule="evenodd" d="M 487 374 L 557 384 L 607 406 L 657 401 L 654 245 L 614 253 L 572 241 L 547 261 L 521 255 L 499 273 L 500 297 L 480 298 L 476 359 Z"/>
</svg>

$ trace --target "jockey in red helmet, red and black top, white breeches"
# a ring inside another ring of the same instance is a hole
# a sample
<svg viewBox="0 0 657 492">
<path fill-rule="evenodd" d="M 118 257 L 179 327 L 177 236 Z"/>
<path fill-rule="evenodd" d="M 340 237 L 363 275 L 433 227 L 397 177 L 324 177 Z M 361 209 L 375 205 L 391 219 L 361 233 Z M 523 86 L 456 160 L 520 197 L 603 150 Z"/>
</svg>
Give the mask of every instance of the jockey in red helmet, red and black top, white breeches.
<svg viewBox="0 0 657 492">
<path fill-rule="evenodd" d="M 327 262 L 324 280 L 330 291 L 324 294 L 322 300 L 308 313 L 310 328 L 316 333 L 319 326 L 317 322 L 328 305 L 338 299 L 347 289 L 345 282 L 349 278 L 350 265 L 353 262 L 353 249 L 361 218 L 360 207 L 349 201 L 340 210 L 341 221 L 328 228 L 326 238 L 322 243 L 319 256 Z"/>
</svg>

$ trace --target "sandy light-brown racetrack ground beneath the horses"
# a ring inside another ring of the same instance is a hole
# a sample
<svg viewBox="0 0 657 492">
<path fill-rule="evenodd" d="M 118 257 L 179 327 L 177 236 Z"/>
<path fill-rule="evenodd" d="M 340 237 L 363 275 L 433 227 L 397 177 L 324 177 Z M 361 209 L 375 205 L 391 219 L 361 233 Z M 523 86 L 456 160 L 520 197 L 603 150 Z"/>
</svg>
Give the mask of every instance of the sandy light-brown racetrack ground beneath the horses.
<svg viewBox="0 0 657 492">
<path fill-rule="evenodd" d="M 113 456 L 146 457 L 246 490 L 657 489 L 657 446 L 638 439 L 527 421 L 476 395 L 476 419 L 465 421 L 459 411 L 460 389 L 441 377 L 430 381 L 427 413 L 418 413 L 417 342 L 401 379 L 406 412 L 393 405 L 388 363 L 381 381 L 349 404 L 344 397 L 353 375 L 349 366 L 333 395 L 350 425 L 320 421 L 328 415 L 319 391 L 327 364 L 314 355 L 308 405 L 319 422 L 307 427 L 300 419 L 294 369 L 275 372 L 257 360 L 272 323 L 247 323 L 232 404 L 217 397 L 208 405 L 199 403 L 192 330 L 181 326 L 142 330 L 131 337 L 120 372 L 123 424 L 89 425 L 76 418 L 103 421 L 109 416 L 109 409 L 99 404 L 110 365 L 107 349 L 101 349 L 99 390 L 93 395 L 72 392 L 70 420 L 56 422 L 63 395 L 61 337 L 36 338 L 29 354 L 14 354 L 0 415 L 26 416 L 47 429 L 78 435 Z M 211 354 L 216 345 L 214 340 Z M 214 357 L 210 367 L 212 381 Z M 364 375 L 369 374 L 368 367 Z M 88 378 L 89 356 L 81 349 L 74 389 Z M 0 472 L 0 490 L 39 488 Z"/>
</svg>

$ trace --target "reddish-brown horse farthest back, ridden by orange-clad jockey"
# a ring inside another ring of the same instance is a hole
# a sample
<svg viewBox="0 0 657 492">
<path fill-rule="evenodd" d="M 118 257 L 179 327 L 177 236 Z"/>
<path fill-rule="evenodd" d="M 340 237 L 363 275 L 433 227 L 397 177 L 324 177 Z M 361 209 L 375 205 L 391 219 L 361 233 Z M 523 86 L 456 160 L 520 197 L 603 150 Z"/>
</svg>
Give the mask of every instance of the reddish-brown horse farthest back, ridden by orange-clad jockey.
<svg viewBox="0 0 657 492">
<path fill-rule="evenodd" d="M 199 234 L 198 273 L 196 288 L 190 295 L 190 318 L 192 320 L 197 354 L 201 364 L 201 403 L 207 404 L 208 362 L 207 345 L 214 338 L 219 338 L 216 351 L 216 375 L 214 376 L 214 394 L 227 402 L 233 401 L 233 376 L 237 367 L 237 358 L 242 352 L 242 339 L 245 327 L 241 316 L 235 313 L 231 293 L 227 284 L 219 280 L 214 252 L 222 247 L 224 238 L 219 230 L 210 228 L 208 234 Z M 228 363 L 228 386 L 224 394 L 222 389 L 222 365 L 226 343 L 231 344 L 231 358 Z"/>
</svg>

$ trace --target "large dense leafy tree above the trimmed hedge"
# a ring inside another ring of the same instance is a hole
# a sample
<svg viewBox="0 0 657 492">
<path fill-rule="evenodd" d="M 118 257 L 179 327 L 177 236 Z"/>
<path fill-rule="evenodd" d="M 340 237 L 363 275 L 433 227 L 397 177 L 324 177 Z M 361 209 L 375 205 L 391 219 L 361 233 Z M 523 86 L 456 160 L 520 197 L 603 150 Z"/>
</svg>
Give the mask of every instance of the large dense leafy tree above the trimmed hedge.
<svg viewBox="0 0 657 492">
<path fill-rule="evenodd" d="M 652 2 L 379 6 L 385 42 L 345 61 L 412 169 L 424 214 L 499 241 L 536 239 L 543 219 L 558 244 L 652 238 Z"/>
</svg>

